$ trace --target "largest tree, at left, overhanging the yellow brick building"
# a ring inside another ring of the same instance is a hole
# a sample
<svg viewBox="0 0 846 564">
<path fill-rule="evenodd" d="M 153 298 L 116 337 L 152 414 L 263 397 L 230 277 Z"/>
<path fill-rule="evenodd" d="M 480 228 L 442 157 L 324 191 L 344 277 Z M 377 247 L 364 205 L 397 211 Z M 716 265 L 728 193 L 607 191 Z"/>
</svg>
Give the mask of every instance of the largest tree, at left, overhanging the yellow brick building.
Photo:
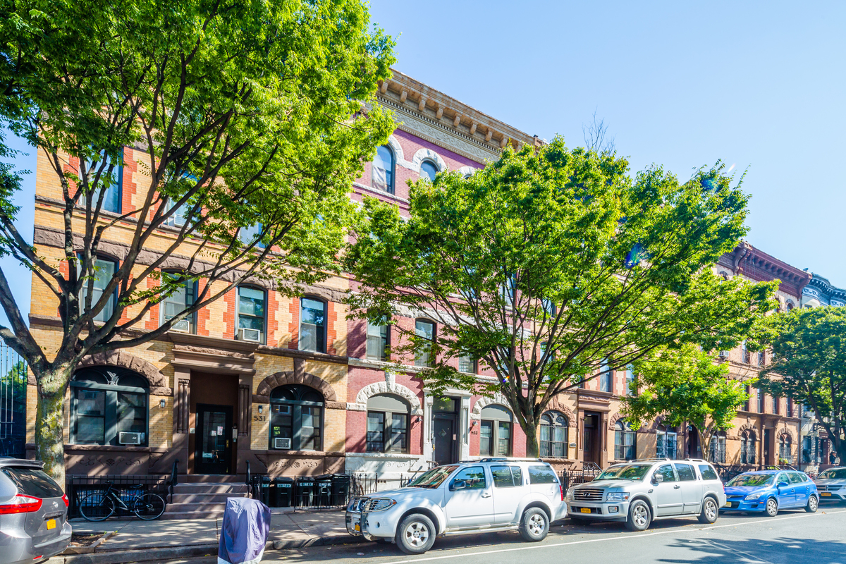
<svg viewBox="0 0 846 564">
<path fill-rule="evenodd" d="M 85 355 L 160 337 L 249 277 L 294 292 L 333 271 L 352 180 L 393 129 L 373 103 L 393 41 L 368 31 L 358 0 L 45 6 L 0 4 L 0 118 L 58 178 L 61 249 L 25 242 L 12 178 L 0 194 L 0 252 L 58 300 L 62 339 L 55 350 L 36 340 L 3 271 L 11 327 L 0 336 L 36 377 L 37 457 L 63 480 L 62 400 Z M 124 147 L 143 153 L 136 164 L 152 189 L 112 213 Z M 116 240 L 112 274 L 96 258 Z M 164 276 L 166 267 L 177 270 Z M 157 329 L 139 324 L 197 281 L 193 304 Z"/>
</svg>

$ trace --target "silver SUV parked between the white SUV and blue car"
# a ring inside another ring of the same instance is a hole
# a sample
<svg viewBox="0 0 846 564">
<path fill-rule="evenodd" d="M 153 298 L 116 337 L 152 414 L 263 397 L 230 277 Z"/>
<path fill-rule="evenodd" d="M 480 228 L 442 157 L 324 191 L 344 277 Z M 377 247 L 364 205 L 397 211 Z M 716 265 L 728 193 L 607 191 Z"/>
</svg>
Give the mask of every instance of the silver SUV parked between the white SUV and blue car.
<svg viewBox="0 0 846 564">
<path fill-rule="evenodd" d="M 567 492 L 567 511 L 574 522 L 623 521 L 632 531 L 667 517 L 696 516 L 700 523 L 714 523 L 725 503 L 717 472 L 700 458 L 615 464 Z"/>
</svg>

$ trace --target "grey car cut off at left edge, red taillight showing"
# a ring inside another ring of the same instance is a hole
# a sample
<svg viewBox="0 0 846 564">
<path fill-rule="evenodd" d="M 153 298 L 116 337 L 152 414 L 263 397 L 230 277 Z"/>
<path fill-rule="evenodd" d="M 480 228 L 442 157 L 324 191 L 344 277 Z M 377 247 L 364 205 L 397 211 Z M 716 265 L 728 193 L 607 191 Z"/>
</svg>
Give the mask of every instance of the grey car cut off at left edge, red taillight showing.
<svg viewBox="0 0 846 564">
<path fill-rule="evenodd" d="M 35 460 L 0 457 L 0 562 L 33 562 L 70 544 L 68 496 Z"/>
</svg>

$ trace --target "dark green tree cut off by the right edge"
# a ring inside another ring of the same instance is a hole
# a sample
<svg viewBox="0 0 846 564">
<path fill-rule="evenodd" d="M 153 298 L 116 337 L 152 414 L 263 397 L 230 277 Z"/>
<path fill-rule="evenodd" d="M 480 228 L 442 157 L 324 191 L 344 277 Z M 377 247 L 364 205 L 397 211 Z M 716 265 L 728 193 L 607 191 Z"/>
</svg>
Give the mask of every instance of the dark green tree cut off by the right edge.
<svg viewBox="0 0 846 564">
<path fill-rule="evenodd" d="M 757 346 L 772 348 L 759 387 L 814 413 L 846 461 L 846 308 L 791 309 L 761 324 Z"/>
</svg>

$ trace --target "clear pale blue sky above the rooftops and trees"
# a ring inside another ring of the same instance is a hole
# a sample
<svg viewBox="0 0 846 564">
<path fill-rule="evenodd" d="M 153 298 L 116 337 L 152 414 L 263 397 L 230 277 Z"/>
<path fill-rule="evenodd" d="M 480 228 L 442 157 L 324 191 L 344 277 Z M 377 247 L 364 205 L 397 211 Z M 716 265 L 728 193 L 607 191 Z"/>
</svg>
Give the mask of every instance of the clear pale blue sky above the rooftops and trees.
<svg viewBox="0 0 846 564">
<path fill-rule="evenodd" d="M 373 0 L 371 15 L 398 70 L 529 134 L 580 145 L 596 110 L 633 171 L 748 168 L 750 243 L 846 287 L 846 3 Z M 29 274 L 0 261 L 28 310 Z"/>
</svg>

